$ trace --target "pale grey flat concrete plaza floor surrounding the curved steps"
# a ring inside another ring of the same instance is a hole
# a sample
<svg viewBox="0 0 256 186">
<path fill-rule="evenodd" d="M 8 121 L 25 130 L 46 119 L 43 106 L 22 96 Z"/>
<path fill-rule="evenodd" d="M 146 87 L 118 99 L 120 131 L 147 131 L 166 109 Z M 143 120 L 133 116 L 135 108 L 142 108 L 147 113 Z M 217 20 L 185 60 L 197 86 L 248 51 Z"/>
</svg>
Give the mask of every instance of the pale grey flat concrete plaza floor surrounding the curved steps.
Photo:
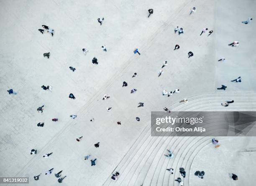
<svg viewBox="0 0 256 186">
<path fill-rule="evenodd" d="M 189 15 L 193 6 L 197 12 Z M 67 175 L 62 185 L 100 186 L 150 125 L 151 111 L 162 111 L 185 97 L 215 93 L 221 84 L 228 86 L 227 94 L 255 93 L 256 26 L 254 20 L 241 23 L 248 17 L 256 19 L 255 7 L 253 0 L 1 1 L 0 177 L 26 176 L 33 186 L 58 185 L 54 175 L 44 175 L 54 168 L 53 173 L 63 170 Z M 147 18 L 149 8 L 154 14 Z M 105 18 L 101 26 L 99 17 Z M 54 36 L 38 32 L 41 25 L 54 29 Z M 176 26 L 184 28 L 184 34 L 174 34 Z M 205 27 L 213 30 L 209 37 L 208 33 L 200 36 Z M 240 45 L 228 46 L 233 40 Z M 173 50 L 176 44 L 179 50 Z M 82 48 L 89 50 L 86 56 Z M 141 55 L 134 55 L 134 48 Z M 189 51 L 194 56 L 188 59 Z M 46 52 L 51 53 L 49 59 L 43 57 Z M 98 65 L 91 63 L 93 57 Z M 224 63 L 218 62 L 221 57 L 226 58 Z M 165 60 L 168 65 L 158 77 Z M 69 66 L 77 70 L 72 72 Z M 138 76 L 131 78 L 135 72 Z M 238 76 L 242 83 L 230 82 Z M 123 81 L 127 87 L 122 87 Z M 53 91 L 41 85 L 52 85 Z M 18 94 L 9 95 L 10 88 Z M 131 94 L 132 88 L 138 91 Z M 176 88 L 179 94 L 161 95 Z M 68 98 L 69 93 L 76 99 Z M 109 100 L 102 100 L 105 93 Z M 144 107 L 137 108 L 139 102 Z M 36 108 L 42 105 L 44 112 L 38 113 Z M 107 107 L 112 107 L 110 112 Z M 72 114 L 77 118 L 71 119 Z M 45 123 L 43 128 L 36 126 L 40 121 Z M 78 143 L 75 139 L 80 136 L 83 140 Z M 100 148 L 93 146 L 97 142 Z M 256 147 L 251 145 L 252 138 L 249 143 L 250 148 Z M 233 144 L 226 146 L 232 149 Z M 32 148 L 38 150 L 36 155 L 30 155 Z M 50 152 L 49 158 L 42 157 Z M 207 160 L 207 152 L 197 156 Z M 96 166 L 84 161 L 87 154 L 97 158 Z M 255 165 L 255 158 L 241 161 L 244 167 Z M 39 173 L 40 179 L 34 181 Z M 198 183 L 191 178 L 189 185 L 215 183 L 207 180 Z"/>
</svg>

